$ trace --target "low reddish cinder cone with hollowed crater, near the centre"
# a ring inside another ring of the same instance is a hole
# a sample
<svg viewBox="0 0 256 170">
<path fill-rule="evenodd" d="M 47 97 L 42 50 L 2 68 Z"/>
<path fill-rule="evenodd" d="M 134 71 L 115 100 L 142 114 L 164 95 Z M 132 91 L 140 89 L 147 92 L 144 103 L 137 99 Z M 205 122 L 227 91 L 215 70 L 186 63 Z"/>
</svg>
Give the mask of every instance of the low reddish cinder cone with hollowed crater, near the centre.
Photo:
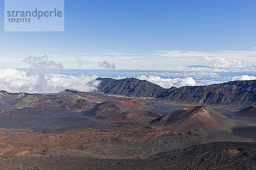
<svg viewBox="0 0 256 170">
<path fill-rule="evenodd" d="M 113 122 L 124 122 L 133 116 L 159 117 L 160 113 L 149 111 L 150 108 L 135 99 L 128 101 L 106 101 L 95 105 L 94 108 L 83 112 L 85 116 L 93 116 Z"/>
</svg>

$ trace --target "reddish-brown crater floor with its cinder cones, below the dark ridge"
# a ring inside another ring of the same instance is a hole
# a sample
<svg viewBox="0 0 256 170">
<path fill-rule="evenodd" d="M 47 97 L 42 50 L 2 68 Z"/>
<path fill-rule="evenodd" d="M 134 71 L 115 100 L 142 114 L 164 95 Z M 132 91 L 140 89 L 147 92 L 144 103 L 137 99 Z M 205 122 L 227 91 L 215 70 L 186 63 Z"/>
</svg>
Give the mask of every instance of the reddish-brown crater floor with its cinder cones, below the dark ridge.
<svg viewBox="0 0 256 170">
<path fill-rule="evenodd" d="M 256 140 L 252 122 L 239 119 L 238 126 L 208 106 L 77 91 L 32 103 L 20 99 L 29 106 L 21 109 L 15 101 L 0 99 L 0 169 L 223 169 L 219 163 L 232 169 L 240 159 L 255 163 L 256 149 L 237 143 Z M 216 142 L 227 140 L 235 143 Z"/>
</svg>

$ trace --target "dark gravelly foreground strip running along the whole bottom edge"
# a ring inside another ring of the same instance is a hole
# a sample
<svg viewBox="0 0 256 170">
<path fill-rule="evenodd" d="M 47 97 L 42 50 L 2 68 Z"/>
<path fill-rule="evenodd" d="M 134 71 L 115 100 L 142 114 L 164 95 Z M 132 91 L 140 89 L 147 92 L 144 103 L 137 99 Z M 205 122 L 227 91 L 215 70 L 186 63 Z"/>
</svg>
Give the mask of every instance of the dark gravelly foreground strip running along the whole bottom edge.
<svg viewBox="0 0 256 170">
<path fill-rule="evenodd" d="M 255 170 L 255 142 L 212 142 L 135 159 L 20 156 L 0 159 L 4 170 Z"/>
</svg>

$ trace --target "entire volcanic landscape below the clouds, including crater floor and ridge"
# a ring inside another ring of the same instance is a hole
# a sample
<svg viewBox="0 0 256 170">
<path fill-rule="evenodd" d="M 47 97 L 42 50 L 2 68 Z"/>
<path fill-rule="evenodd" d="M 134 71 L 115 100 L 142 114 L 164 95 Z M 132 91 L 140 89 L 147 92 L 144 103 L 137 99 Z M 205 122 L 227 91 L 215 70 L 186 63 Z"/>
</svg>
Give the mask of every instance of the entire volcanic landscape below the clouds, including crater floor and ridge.
<svg viewBox="0 0 256 170">
<path fill-rule="evenodd" d="M 0 91 L 0 169 L 256 169 L 256 81 Z"/>
</svg>

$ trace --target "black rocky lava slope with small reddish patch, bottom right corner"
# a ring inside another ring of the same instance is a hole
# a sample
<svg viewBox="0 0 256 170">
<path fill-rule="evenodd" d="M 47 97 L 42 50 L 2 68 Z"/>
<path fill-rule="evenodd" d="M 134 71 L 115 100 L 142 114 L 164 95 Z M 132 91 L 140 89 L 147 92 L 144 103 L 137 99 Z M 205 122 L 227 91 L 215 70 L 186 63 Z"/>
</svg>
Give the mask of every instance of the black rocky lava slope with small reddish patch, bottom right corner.
<svg viewBox="0 0 256 170">
<path fill-rule="evenodd" d="M 158 153 L 149 159 L 158 160 L 152 169 L 178 170 L 255 170 L 255 142 L 212 142 Z"/>
</svg>

